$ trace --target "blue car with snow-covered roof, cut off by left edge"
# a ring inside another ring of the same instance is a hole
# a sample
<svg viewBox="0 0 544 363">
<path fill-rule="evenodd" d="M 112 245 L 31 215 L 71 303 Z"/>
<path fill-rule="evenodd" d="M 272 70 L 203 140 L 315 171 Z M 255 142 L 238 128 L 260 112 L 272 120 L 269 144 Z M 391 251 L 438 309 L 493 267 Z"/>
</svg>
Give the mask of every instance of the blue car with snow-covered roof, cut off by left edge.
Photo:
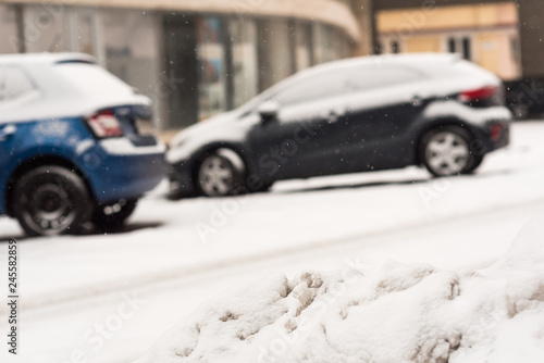
<svg viewBox="0 0 544 363">
<path fill-rule="evenodd" d="M 30 236 L 121 225 L 164 177 L 151 101 L 85 54 L 0 57 L 0 215 Z"/>
</svg>

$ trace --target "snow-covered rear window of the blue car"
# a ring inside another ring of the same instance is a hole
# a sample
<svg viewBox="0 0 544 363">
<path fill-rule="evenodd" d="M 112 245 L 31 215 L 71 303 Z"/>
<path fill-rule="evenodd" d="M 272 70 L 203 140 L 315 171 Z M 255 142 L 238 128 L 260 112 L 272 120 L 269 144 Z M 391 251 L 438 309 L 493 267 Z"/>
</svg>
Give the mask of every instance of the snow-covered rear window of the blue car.
<svg viewBox="0 0 544 363">
<path fill-rule="evenodd" d="M 96 64 L 62 62 L 55 65 L 60 75 L 75 89 L 86 96 L 134 95 L 134 89 Z"/>
</svg>

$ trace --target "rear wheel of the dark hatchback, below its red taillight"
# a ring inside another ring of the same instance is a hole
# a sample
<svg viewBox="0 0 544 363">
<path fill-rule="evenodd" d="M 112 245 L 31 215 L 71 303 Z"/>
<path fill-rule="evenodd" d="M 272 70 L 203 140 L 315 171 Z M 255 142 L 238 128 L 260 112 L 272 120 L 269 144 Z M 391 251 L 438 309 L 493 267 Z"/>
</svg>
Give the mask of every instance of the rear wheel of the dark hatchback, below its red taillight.
<svg viewBox="0 0 544 363">
<path fill-rule="evenodd" d="M 472 137 L 462 127 L 441 126 L 428 132 L 420 146 L 420 160 L 436 177 L 468 174 L 482 162 L 483 155 L 474 155 Z"/>
</svg>

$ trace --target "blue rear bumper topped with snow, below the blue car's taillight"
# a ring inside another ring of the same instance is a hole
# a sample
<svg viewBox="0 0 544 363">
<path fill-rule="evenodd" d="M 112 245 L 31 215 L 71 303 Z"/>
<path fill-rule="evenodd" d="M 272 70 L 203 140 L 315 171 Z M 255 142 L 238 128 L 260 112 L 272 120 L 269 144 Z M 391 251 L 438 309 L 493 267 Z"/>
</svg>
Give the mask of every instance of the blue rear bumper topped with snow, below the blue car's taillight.
<svg viewBox="0 0 544 363">
<path fill-rule="evenodd" d="M 166 176 L 164 146 L 134 147 L 126 139 L 100 141 L 83 163 L 99 203 L 137 199 Z"/>
</svg>

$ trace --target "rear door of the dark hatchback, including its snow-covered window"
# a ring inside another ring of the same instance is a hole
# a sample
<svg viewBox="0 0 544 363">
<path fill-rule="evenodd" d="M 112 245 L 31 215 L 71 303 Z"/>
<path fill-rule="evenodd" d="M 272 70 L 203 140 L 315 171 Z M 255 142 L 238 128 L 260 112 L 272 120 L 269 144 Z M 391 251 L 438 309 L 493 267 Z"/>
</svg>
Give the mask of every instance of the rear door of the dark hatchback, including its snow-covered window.
<svg viewBox="0 0 544 363">
<path fill-rule="evenodd" d="M 366 64 L 349 78 L 345 167 L 353 172 L 401 167 L 413 149 L 409 127 L 428 100 L 422 76 L 401 67 Z"/>
</svg>

